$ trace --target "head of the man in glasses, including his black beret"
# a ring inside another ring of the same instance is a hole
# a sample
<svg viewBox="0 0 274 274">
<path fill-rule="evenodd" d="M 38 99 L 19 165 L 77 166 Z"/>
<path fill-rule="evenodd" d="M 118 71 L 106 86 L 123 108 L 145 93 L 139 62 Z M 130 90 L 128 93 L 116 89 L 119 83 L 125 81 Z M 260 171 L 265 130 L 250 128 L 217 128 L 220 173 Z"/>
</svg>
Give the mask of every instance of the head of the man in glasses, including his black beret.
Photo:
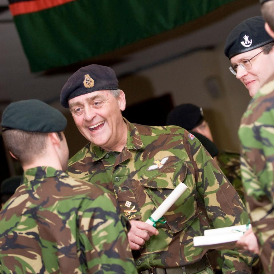
<svg viewBox="0 0 274 274">
<path fill-rule="evenodd" d="M 262 16 L 251 17 L 235 27 L 225 42 L 229 70 L 253 97 L 273 73 L 274 39 L 264 28 Z"/>
</svg>

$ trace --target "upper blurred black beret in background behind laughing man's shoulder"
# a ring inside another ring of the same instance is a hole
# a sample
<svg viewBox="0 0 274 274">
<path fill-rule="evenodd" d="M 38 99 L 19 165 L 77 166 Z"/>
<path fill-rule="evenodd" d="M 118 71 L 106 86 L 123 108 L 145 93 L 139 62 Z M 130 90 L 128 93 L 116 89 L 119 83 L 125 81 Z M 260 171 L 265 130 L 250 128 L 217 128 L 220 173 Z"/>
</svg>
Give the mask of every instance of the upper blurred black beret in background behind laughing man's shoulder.
<svg viewBox="0 0 274 274">
<path fill-rule="evenodd" d="M 202 121 L 204 121 L 202 108 L 192 104 L 183 104 L 168 113 L 166 124 L 191 130 L 200 125 Z"/>
</svg>

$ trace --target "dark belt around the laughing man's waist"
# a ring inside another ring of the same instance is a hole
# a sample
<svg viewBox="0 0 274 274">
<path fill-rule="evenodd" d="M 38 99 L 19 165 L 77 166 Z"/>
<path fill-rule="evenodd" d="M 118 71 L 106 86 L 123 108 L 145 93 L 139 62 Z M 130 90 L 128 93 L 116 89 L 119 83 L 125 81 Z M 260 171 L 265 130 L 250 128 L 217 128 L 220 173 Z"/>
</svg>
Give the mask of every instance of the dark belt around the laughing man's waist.
<svg viewBox="0 0 274 274">
<path fill-rule="evenodd" d="M 193 263 L 191 265 L 185 265 L 180 267 L 169 267 L 169 268 L 154 268 L 153 270 L 146 269 L 138 272 L 139 274 L 195 274 L 198 273 L 207 267 L 210 267 L 210 264 L 207 260 L 207 257 L 204 256 L 202 260 L 198 263 Z"/>
</svg>

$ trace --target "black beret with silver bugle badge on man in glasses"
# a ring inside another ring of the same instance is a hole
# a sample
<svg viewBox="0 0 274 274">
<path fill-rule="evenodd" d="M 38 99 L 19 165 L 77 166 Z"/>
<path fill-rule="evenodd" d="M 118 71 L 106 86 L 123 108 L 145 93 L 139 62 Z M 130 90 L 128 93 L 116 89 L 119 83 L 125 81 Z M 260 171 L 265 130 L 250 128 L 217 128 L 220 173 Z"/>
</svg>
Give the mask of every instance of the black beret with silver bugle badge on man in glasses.
<svg viewBox="0 0 274 274">
<path fill-rule="evenodd" d="M 274 41 L 265 30 L 262 16 L 255 16 L 241 22 L 225 41 L 225 56 L 231 59 L 240 53 L 257 49 Z"/>
</svg>

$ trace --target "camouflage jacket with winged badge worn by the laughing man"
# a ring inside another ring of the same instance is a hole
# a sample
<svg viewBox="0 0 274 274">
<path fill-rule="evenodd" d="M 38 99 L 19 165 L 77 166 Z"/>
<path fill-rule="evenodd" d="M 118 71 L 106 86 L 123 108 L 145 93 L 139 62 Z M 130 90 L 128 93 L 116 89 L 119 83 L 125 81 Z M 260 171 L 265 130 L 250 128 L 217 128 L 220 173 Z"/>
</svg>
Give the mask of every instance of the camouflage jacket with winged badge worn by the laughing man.
<svg viewBox="0 0 274 274">
<path fill-rule="evenodd" d="M 200 261 L 207 250 L 193 247 L 194 236 L 248 221 L 239 195 L 194 135 L 175 126 L 125 122 L 127 144 L 121 153 L 89 143 L 70 159 L 70 175 L 114 192 L 122 214 L 140 221 L 185 183 L 188 190 L 164 215 L 166 223 L 157 223 L 159 235 L 134 252 L 134 259 L 138 271 Z M 224 273 L 250 273 L 251 258 L 244 253 L 224 250 L 222 255 Z"/>
</svg>

